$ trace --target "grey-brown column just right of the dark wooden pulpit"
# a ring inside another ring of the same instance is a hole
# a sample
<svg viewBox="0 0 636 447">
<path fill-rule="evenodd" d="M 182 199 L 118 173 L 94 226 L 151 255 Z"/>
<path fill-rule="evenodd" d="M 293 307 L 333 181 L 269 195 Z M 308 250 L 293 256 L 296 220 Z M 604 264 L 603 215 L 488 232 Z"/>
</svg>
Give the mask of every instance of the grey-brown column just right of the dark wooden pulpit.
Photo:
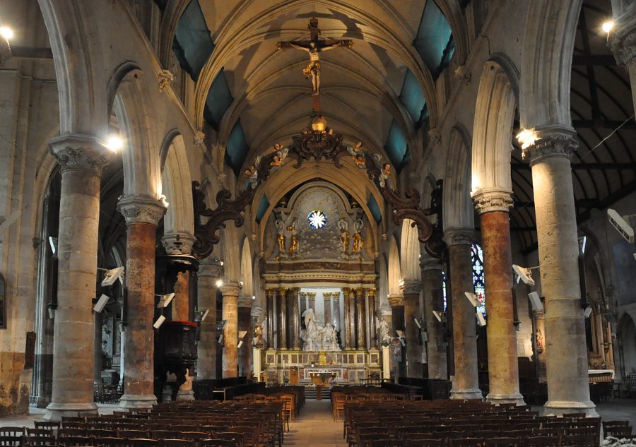
<svg viewBox="0 0 636 447">
<path fill-rule="evenodd" d="M 220 278 L 223 267 L 218 261 L 207 259 L 199 264 L 197 280 L 197 309 L 208 311 L 208 316 L 201 321 L 199 344 L 197 345 L 196 379 L 209 380 L 216 377 L 216 356 L 218 353 L 218 335 L 216 326 L 216 281 Z"/>
</svg>

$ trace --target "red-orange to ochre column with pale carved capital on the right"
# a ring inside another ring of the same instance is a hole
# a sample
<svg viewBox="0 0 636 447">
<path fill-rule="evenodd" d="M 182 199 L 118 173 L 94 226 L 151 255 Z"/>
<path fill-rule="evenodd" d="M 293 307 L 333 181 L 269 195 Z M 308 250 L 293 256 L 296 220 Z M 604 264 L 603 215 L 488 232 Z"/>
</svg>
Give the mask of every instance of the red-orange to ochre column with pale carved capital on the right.
<svg viewBox="0 0 636 447">
<path fill-rule="evenodd" d="M 512 193 L 479 191 L 473 196 L 481 220 L 484 280 L 488 315 L 488 383 L 491 403 L 525 405 L 519 393 L 517 330 L 512 296 L 512 247 L 510 216 Z"/>
</svg>

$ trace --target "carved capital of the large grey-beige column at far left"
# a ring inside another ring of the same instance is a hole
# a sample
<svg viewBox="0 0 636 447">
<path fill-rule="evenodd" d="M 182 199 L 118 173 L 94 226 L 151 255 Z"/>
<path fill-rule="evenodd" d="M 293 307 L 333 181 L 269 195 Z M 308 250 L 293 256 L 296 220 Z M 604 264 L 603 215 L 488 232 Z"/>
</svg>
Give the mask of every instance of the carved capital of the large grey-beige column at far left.
<svg viewBox="0 0 636 447">
<path fill-rule="evenodd" d="M 107 149 L 98 139 L 89 135 L 60 135 L 49 141 L 49 152 L 61 167 L 83 169 L 101 176 L 102 168 L 108 164 Z"/>
</svg>

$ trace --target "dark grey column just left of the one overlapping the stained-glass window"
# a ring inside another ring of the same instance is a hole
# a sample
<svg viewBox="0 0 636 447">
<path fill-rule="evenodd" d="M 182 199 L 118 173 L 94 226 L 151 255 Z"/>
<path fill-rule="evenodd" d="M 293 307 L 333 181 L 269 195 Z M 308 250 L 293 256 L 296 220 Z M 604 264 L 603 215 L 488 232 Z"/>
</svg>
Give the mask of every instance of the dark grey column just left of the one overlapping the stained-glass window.
<svg viewBox="0 0 636 447">
<path fill-rule="evenodd" d="M 423 254 L 422 286 L 424 292 L 424 321 L 428 335 L 427 357 L 429 379 L 448 379 L 446 358 L 446 328 L 437 321 L 432 311 L 444 311 L 444 291 L 442 290 L 442 261 Z"/>
</svg>

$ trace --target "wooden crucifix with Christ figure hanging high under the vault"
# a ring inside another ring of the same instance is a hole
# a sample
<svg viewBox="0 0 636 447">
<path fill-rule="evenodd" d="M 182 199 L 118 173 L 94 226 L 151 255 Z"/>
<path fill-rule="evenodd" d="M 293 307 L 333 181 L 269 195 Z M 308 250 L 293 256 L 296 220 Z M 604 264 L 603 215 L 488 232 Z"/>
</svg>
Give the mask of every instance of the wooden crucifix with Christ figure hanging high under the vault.
<svg viewBox="0 0 636 447">
<path fill-rule="evenodd" d="M 314 109 L 317 111 L 319 106 L 318 95 L 320 94 L 320 56 L 321 52 L 326 52 L 329 49 L 334 49 L 338 47 L 349 47 L 353 46 L 353 42 L 351 40 L 333 40 L 330 39 L 329 42 L 325 40 L 320 40 L 320 29 L 318 28 L 318 19 L 312 18 L 310 20 L 310 24 L 307 25 L 307 29 L 310 30 L 310 40 L 285 40 L 282 42 L 278 42 L 279 49 L 285 48 L 295 48 L 302 49 L 303 51 L 309 53 L 310 62 L 309 64 L 302 69 L 302 74 L 305 76 L 305 79 L 312 78 L 312 96 L 316 97 L 314 100 Z"/>
</svg>

